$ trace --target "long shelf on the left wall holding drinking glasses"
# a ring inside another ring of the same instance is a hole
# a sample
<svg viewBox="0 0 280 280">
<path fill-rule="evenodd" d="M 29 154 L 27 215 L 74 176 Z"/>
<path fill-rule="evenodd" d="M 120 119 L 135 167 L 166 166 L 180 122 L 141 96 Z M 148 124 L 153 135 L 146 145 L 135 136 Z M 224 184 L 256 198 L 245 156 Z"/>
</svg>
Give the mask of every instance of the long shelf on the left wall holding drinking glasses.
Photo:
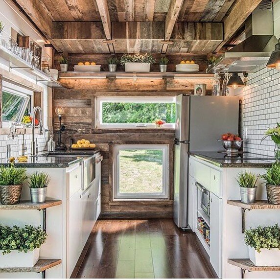
<svg viewBox="0 0 280 280">
<path fill-rule="evenodd" d="M 65 88 L 60 82 L 47 75 L 42 70 L 35 68 L 33 65 L 18 57 L 12 51 L 3 46 L 0 46 L 0 59 L 0 63 L 5 64 L 10 68 L 10 70 L 14 69 L 21 71 L 24 74 L 34 76 L 36 83 L 39 82 L 51 88 Z"/>
</svg>

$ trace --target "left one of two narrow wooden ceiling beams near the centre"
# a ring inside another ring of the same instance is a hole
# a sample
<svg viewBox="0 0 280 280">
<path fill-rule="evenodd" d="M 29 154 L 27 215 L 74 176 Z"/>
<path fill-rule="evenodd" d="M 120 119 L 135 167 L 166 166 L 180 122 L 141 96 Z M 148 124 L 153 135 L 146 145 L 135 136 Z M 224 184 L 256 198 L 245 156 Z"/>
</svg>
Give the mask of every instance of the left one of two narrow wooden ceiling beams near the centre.
<svg viewBox="0 0 280 280">
<path fill-rule="evenodd" d="M 107 40 L 112 39 L 112 25 L 110 20 L 110 13 L 108 8 L 107 0 L 95 0 L 97 4 L 97 8 L 101 17 L 101 21 L 103 24 L 105 36 Z M 108 48 L 111 53 L 115 52 L 114 45 L 112 43 L 108 44 Z"/>
</svg>

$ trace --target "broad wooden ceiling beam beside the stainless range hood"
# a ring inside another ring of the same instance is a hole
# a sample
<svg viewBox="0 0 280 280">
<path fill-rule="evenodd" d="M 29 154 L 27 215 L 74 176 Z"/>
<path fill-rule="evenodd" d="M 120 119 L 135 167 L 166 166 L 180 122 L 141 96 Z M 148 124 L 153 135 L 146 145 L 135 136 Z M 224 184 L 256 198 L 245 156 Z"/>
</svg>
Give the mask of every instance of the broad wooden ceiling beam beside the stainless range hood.
<svg viewBox="0 0 280 280">
<path fill-rule="evenodd" d="M 231 13 L 224 21 L 224 40 L 214 52 L 218 52 L 231 39 L 260 2 L 261 0 L 237 0 Z"/>
</svg>

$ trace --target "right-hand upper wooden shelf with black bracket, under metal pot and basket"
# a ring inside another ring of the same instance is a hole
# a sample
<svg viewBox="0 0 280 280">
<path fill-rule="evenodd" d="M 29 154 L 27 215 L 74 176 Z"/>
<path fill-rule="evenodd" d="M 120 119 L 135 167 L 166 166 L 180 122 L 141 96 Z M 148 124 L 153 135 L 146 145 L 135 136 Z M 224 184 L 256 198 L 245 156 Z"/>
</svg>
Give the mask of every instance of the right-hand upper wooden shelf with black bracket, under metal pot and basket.
<svg viewBox="0 0 280 280">
<path fill-rule="evenodd" d="M 228 200 L 229 205 L 237 206 L 241 208 L 241 232 L 245 232 L 245 211 L 246 210 L 268 210 L 268 209 L 280 209 L 280 204 L 270 204 L 267 200 L 256 200 L 255 203 L 243 203 L 240 200 Z"/>
</svg>

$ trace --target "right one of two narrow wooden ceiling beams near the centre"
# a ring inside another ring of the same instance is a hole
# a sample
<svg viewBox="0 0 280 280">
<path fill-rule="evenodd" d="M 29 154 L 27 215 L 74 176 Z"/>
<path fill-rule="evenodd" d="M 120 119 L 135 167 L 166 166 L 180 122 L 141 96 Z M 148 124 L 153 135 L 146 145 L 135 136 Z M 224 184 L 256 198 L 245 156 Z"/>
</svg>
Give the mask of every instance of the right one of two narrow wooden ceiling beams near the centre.
<svg viewBox="0 0 280 280">
<path fill-rule="evenodd" d="M 169 41 L 174 24 L 178 18 L 182 3 L 184 0 L 171 0 L 170 6 L 165 18 L 165 27 L 164 27 L 164 41 Z M 163 44 L 162 53 L 166 53 L 168 44 Z"/>
</svg>

